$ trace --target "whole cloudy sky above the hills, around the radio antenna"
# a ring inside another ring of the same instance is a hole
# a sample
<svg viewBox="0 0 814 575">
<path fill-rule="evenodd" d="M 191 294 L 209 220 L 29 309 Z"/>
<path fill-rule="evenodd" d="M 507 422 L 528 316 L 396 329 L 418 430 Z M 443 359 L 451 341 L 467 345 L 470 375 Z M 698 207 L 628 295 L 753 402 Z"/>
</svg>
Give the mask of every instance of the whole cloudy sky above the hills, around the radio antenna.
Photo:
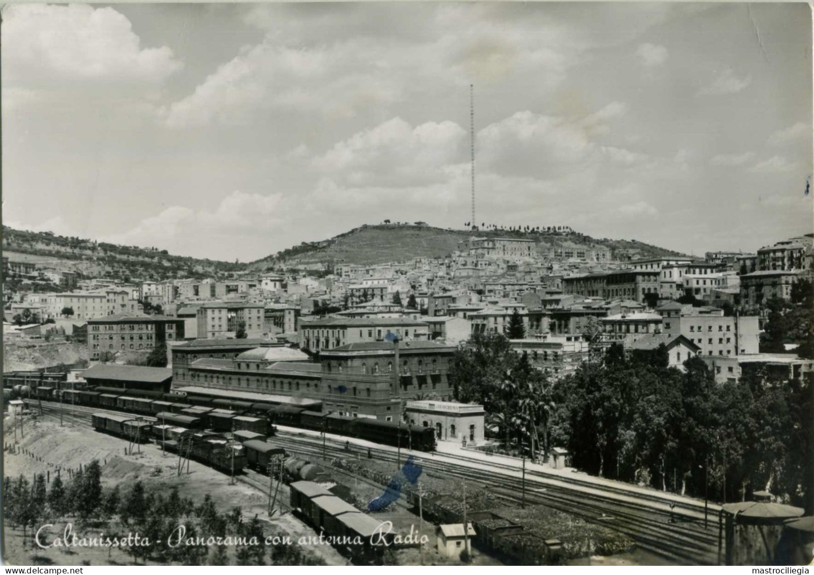
<svg viewBox="0 0 814 575">
<path fill-rule="evenodd" d="M 11 5 L 3 223 L 241 261 L 384 219 L 812 231 L 805 4 Z"/>
</svg>

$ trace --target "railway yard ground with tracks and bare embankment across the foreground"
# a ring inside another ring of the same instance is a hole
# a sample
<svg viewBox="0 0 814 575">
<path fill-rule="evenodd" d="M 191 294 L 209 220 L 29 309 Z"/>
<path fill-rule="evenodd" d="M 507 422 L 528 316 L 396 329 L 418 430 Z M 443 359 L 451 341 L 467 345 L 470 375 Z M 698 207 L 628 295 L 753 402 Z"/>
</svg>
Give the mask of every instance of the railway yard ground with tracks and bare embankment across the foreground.
<svg viewBox="0 0 814 575">
<path fill-rule="evenodd" d="M 148 440 L 142 436 L 135 442 L 132 430 L 129 437 L 118 437 L 99 429 L 100 418 L 138 418 L 137 427 L 155 429 Z M 348 525 L 371 519 L 377 524 L 392 522 L 393 533 L 408 544 L 394 546 L 387 558 L 379 555 L 374 562 L 395 564 L 458 563 L 435 552 L 435 525 L 462 521 L 461 487 L 465 482 L 468 521 L 481 532 L 473 547 L 475 564 L 545 563 L 552 560 L 544 544 L 547 539 L 562 543 L 562 551 L 554 559 L 567 564 L 717 561 L 717 507 L 710 507 L 705 529 L 704 503 L 694 499 L 595 481 L 576 473 L 548 473 L 536 466 L 523 473 L 517 462 L 497 456 L 409 451 L 404 446 L 285 425 L 278 425 L 276 433 L 265 440 L 249 431 L 236 432 L 234 437 L 229 432 L 217 436 L 203 430 L 185 433 L 190 446 L 207 438 L 216 451 L 231 450 L 227 451 L 231 455 L 221 455 L 220 464 L 213 464 L 206 457 L 185 453 L 183 439 L 180 446 L 167 441 L 161 423 L 156 416 L 128 415 L 120 409 L 31 402 L 25 437 L 18 437 L 19 443 L 11 451 L 13 434 L 7 426 L 6 475 L 55 473 L 56 468 L 98 459 L 104 462 L 103 477 L 110 485 L 126 485 L 138 477 L 174 485 L 182 493 L 198 497 L 209 493 L 224 510 L 238 506 L 243 516 L 256 514 L 272 529 L 297 537 L 330 531 L 305 516 L 300 503 L 291 505 L 289 484 L 310 479 L 331 488 L 331 497 L 315 498 L 315 502 L 341 498 L 344 502 L 339 503 L 353 506 L 344 513 L 345 519 L 356 517 L 355 522 L 346 521 Z M 198 440 L 193 442 L 191 433 L 197 433 Z M 66 434 L 68 441 L 58 439 Z M 59 449 L 66 445 L 70 449 Z M 250 464 L 246 454 L 252 452 L 255 460 Z M 262 452 L 271 459 L 263 460 Z M 420 469 L 418 481 L 405 473 L 408 458 L 409 464 Z M 269 467 L 273 470 L 270 477 Z M 393 481 L 396 497 L 373 510 L 370 502 L 387 491 L 392 493 L 386 488 Z M 269 516 L 272 499 L 275 509 Z M 427 535 L 429 543 L 424 547 L 409 544 L 411 533 Z M 327 564 L 370 561 L 370 557 L 363 560 L 360 553 L 342 547 L 321 545 L 311 552 Z"/>
</svg>

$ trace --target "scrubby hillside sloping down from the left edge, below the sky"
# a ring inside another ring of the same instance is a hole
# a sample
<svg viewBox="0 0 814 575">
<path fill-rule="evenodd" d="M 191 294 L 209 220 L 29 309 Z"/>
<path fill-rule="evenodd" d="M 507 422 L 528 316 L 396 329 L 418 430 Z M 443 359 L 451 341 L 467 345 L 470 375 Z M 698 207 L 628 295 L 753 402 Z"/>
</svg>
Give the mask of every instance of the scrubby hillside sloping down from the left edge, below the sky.
<svg viewBox="0 0 814 575">
<path fill-rule="evenodd" d="M 169 255 L 167 250 L 116 246 L 50 232 L 2 227 L 3 255 L 39 268 L 79 272 L 89 277 L 138 278 L 161 281 L 173 277 L 221 277 L 243 270 L 243 264 Z"/>
</svg>

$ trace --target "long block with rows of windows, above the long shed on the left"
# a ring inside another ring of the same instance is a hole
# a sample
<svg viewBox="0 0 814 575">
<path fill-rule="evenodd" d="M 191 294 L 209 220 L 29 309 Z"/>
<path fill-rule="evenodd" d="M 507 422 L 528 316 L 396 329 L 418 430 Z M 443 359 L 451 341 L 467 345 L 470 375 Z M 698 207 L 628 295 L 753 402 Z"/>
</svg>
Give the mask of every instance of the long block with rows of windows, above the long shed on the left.
<svg viewBox="0 0 814 575">
<path fill-rule="evenodd" d="M 174 317 L 120 314 L 88 320 L 88 351 L 94 361 L 105 351 L 151 350 L 184 337 L 184 320 Z"/>
</svg>

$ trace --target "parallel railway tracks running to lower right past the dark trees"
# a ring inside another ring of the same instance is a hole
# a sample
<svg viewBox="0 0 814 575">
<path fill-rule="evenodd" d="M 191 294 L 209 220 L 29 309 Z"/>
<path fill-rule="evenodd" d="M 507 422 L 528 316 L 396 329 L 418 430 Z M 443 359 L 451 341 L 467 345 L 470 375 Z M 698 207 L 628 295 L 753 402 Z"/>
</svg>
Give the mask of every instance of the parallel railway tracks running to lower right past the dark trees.
<svg viewBox="0 0 814 575">
<path fill-rule="evenodd" d="M 34 409 L 37 406 L 32 404 Z M 90 416 L 93 413 L 121 414 L 119 410 L 100 409 L 98 407 L 60 406 L 59 403 L 43 401 L 42 414 L 49 418 L 59 419 L 59 412 L 63 412 L 63 419 L 71 420 L 81 425 L 90 426 Z M 156 418 L 141 416 L 143 420 L 155 422 Z M 278 429 L 274 443 L 304 457 L 322 458 L 322 438 L 309 433 L 291 432 Z M 325 455 L 327 458 L 347 458 L 345 449 L 346 440 L 331 438 L 325 440 Z M 364 450 L 363 446 L 355 445 L 357 450 Z M 459 480 L 466 478 L 492 490 L 502 499 L 513 503 L 542 504 L 558 511 L 570 513 L 584 521 L 604 525 L 615 529 L 619 533 L 632 538 L 637 545 L 646 551 L 661 555 L 678 564 L 716 564 L 717 563 L 717 513 L 718 506 L 709 507 L 709 528 L 702 525 L 703 513 L 698 512 L 698 503 L 676 503 L 675 509 L 670 509 L 666 500 L 659 498 L 658 494 L 632 494 L 624 488 L 614 486 L 597 486 L 588 481 L 575 478 L 569 481 L 568 477 L 552 479 L 545 473 L 527 470 L 525 480 L 525 497 L 523 497 L 523 479 L 516 477 L 519 469 L 500 461 L 484 462 L 473 461 L 463 455 L 456 454 L 427 454 L 424 452 L 410 452 L 404 449 L 400 462 L 404 462 L 408 455 L 413 455 L 417 463 L 422 466 L 425 473 L 444 479 Z M 398 454 L 395 448 L 385 446 L 371 446 L 371 455 L 377 460 L 390 461 L 394 464 Z M 479 467 L 473 466 L 474 464 Z M 484 469 L 484 466 L 489 469 Z M 336 473 L 345 473 L 356 477 L 357 481 L 365 481 L 370 485 L 383 488 L 378 483 L 365 477 L 359 477 L 344 470 L 332 468 Z M 268 478 L 253 470 L 236 477 L 254 489 L 266 495 L 268 491 Z M 589 488 L 586 489 L 586 486 Z M 681 503 L 681 502 L 679 502 Z M 280 502 L 284 509 L 288 506 Z M 400 506 L 410 507 L 408 503 L 399 499 Z M 676 520 L 676 522 L 673 522 Z"/>
</svg>

